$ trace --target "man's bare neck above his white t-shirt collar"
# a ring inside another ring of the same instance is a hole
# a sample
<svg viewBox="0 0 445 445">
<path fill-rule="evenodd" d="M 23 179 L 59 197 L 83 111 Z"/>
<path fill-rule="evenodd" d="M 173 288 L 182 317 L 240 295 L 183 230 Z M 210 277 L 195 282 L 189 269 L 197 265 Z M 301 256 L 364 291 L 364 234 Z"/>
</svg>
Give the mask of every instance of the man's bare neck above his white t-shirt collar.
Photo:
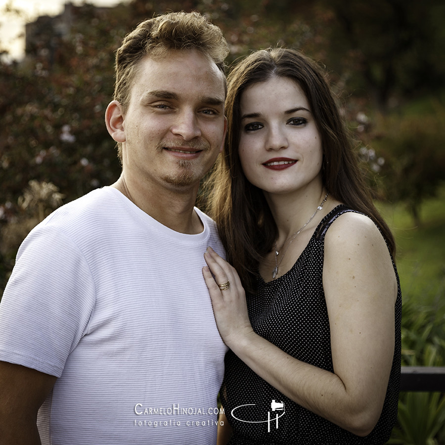
<svg viewBox="0 0 445 445">
<path fill-rule="evenodd" d="M 123 175 L 111 185 L 137 207 L 159 223 L 180 233 L 197 234 L 203 230 L 200 218 L 193 210 L 196 190 L 149 190 L 129 187 Z"/>
</svg>

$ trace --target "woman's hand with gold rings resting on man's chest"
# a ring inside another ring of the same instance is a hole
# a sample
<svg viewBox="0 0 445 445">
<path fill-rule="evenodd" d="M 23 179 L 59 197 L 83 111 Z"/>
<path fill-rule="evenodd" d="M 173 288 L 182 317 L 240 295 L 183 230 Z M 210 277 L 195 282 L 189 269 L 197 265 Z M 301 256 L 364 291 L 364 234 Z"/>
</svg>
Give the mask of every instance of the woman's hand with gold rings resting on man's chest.
<svg viewBox="0 0 445 445">
<path fill-rule="evenodd" d="M 205 252 L 204 258 L 208 267 L 203 267 L 202 273 L 209 288 L 215 320 L 224 343 L 230 348 L 232 343 L 253 333 L 246 294 L 235 268 L 211 247 Z M 228 287 L 227 284 L 223 286 L 227 282 Z"/>
</svg>

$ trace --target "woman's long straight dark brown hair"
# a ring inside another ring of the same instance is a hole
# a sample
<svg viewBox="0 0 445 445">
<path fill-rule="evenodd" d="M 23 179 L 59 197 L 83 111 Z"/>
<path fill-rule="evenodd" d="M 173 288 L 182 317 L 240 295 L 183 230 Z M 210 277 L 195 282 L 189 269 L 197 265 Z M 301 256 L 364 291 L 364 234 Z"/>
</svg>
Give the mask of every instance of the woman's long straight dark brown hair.
<svg viewBox="0 0 445 445">
<path fill-rule="evenodd" d="M 207 211 L 218 224 L 227 261 L 236 268 L 249 292 L 255 291 L 259 262 L 272 249 L 278 231 L 262 190 L 246 179 L 241 168 L 238 155 L 240 98 L 250 85 L 272 77 L 289 78 L 306 94 L 322 140 L 323 185 L 332 197 L 369 216 L 382 231 L 391 253 L 395 254 L 393 235 L 373 204 L 352 138 L 340 118 L 321 68 L 293 49 L 256 51 L 228 75 L 226 143 L 205 187 L 209 190 Z"/>
</svg>

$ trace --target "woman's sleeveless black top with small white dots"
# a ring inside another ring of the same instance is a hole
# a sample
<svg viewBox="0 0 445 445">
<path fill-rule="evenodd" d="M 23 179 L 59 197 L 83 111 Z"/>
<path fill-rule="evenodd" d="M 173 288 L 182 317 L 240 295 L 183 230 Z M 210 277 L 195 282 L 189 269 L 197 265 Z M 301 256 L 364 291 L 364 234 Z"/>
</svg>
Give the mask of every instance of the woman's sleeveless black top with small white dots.
<svg viewBox="0 0 445 445">
<path fill-rule="evenodd" d="M 257 334 L 287 354 L 330 372 L 334 369 L 322 285 L 324 237 L 329 226 L 345 212 L 353 210 L 344 205 L 332 210 L 320 222 L 292 269 L 267 283 L 259 278 L 258 294 L 247 296 L 249 317 Z M 395 265 L 394 269 L 397 275 Z M 221 401 L 233 428 L 229 444 L 385 444 L 397 420 L 399 399 L 401 289 L 398 275 L 397 282 L 393 366 L 382 414 L 368 436 L 356 436 L 291 401 L 228 351 Z M 275 409 L 271 407 L 272 401 Z M 280 409 L 281 403 L 284 410 Z"/>
</svg>

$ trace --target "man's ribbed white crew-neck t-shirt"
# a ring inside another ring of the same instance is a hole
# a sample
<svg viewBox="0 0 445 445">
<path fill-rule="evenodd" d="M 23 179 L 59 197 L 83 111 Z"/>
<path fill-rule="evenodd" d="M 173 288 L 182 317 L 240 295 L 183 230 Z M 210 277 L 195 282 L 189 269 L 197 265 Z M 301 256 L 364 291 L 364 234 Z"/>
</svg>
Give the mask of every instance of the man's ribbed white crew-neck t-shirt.
<svg viewBox="0 0 445 445">
<path fill-rule="evenodd" d="M 201 269 L 215 223 L 178 233 L 118 190 L 28 235 L 0 304 L 0 360 L 58 377 L 43 444 L 216 443 L 226 347 Z"/>
</svg>

